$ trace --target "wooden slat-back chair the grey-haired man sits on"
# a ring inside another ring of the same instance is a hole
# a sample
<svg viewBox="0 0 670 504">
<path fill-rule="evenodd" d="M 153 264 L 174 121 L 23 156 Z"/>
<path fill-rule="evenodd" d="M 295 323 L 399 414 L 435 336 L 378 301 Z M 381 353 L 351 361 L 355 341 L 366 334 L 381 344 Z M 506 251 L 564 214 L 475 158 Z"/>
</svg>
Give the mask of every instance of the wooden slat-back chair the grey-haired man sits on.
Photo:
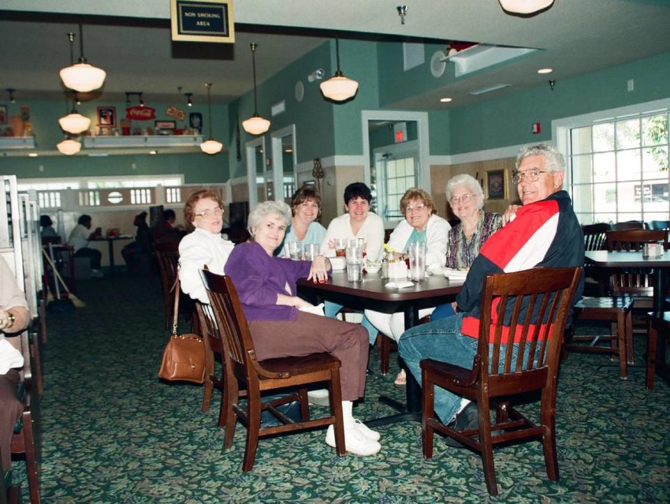
<svg viewBox="0 0 670 504">
<path fill-rule="evenodd" d="M 498 494 L 493 445 L 511 440 L 537 438 L 542 440 L 546 473 L 558 480 L 556 455 L 556 377 L 558 375 L 563 329 L 569 316 L 581 268 L 534 268 L 523 272 L 486 276 L 482 292 L 477 355 L 472 369 L 422 360 L 424 457 L 433 457 L 433 433 L 438 431 L 479 452 L 484 465 L 484 478 L 489 494 Z M 523 308 L 527 304 L 527 308 Z M 513 307 L 509 334 L 519 338 L 519 359 L 512 364 L 512 345 L 501 345 L 502 316 L 491 318 L 492 312 L 505 313 Z M 535 313 L 535 317 L 533 317 Z M 533 325 L 544 320 L 545 325 Z M 493 348 L 489 353 L 489 341 Z M 490 365 L 489 365 L 490 364 Z M 454 394 L 477 401 L 478 429 L 456 431 L 438 420 L 433 411 L 435 385 Z M 542 392 L 540 424 L 535 425 L 509 406 L 509 396 L 539 390 Z M 496 422 L 491 424 L 491 399 L 498 404 Z M 493 435 L 492 431 L 503 432 Z"/>
</svg>

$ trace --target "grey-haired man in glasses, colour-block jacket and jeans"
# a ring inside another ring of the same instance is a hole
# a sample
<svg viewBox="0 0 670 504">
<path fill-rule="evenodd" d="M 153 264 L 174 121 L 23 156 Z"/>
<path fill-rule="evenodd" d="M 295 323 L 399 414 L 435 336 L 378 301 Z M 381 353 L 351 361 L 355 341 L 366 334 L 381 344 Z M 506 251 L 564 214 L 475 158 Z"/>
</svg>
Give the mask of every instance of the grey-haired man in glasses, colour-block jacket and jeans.
<svg viewBox="0 0 670 504">
<path fill-rule="evenodd" d="M 477 353 L 480 302 L 486 275 L 534 267 L 583 266 L 584 237 L 569 194 L 563 191 L 564 172 L 565 159 L 556 147 L 540 144 L 519 151 L 512 180 L 523 206 L 509 209 L 509 222 L 489 237 L 472 261 L 456 297 L 459 313 L 412 327 L 401 336 L 399 353 L 419 383 L 419 362 L 423 359 L 465 368 L 472 366 Z M 581 297 L 583 285 L 582 274 L 574 302 Z M 514 304 L 509 304 L 507 309 L 505 320 L 512 316 L 509 311 L 514 309 Z M 501 352 L 508 344 L 505 336 L 502 343 Z M 512 347 L 513 357 L 516 358 L 518 350 L 518 346 Z M 435 413 L 445 424 L 453 422 L 459 431 L 477 429 L 477 405 L 461 399 L 435 387 Z M 447 444 L 460 446 L 452 440 Z"/>
</svg>

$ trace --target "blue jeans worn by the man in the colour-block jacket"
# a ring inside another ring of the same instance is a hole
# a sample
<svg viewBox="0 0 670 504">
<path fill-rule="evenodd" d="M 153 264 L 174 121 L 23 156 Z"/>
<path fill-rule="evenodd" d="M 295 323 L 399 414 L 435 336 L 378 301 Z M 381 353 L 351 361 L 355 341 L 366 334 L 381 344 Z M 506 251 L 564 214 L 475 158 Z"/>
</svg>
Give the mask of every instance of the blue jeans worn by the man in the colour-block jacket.
<svg viewBox="0 0 670 504">
<path fill-rule="evenodd" d="M 461 334 L 464 313 L 435 320 L 428 324 L 417 325 L 403 333 L 398 342 L 398 352 L 405 361 L 407 369 L 421 384 L 421 366 L 423 359 L 434 359 L 472 369 L 472 359 L 477 354 L 479 340 Z M 489 355 L 492 346 L 489 345 Z M 505 346 L 501 346 L 502 348 Z M 516 353 L 519 346 L 514 344 L 512 366 L 516 365 Z M 435 387 L 435 413 L 445 424 L 451 422 L 461 406 L 461 396 Z"/>
</svg>

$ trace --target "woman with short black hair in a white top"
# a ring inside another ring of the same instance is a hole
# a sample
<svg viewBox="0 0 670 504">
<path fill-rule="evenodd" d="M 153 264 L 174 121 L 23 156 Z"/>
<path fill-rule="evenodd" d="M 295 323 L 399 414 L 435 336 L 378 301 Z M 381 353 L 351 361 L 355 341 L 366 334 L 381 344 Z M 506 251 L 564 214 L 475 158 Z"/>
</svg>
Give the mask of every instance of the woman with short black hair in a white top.
<svg viewBox="0 0 670 504">
<path fill-rule="evenodd" d="M 335 257 L 334 241 L 336 238 L 343 238 L 348 242 L 355 242 L 362 238 L 365 242 L 366 258 L 373 261 L 382 258 L 384 221 L 374 212 L 370 212 L 371 201 L 370 188 L 362 182 L 354 182 L 345 187 L 344 207 L 347 212 L 330 221 L 326 237 L 321 245 L 321 252 L 324 255 Z M 341 309 L 341 304 L 325 302 L 324 311 L 327 317 L 335 318 Z M 362 325 L 368 331 L 368 341 L 373 345 L 377 339 L 377 329 L 366 318 L 363 318 Z"/>
</svg>

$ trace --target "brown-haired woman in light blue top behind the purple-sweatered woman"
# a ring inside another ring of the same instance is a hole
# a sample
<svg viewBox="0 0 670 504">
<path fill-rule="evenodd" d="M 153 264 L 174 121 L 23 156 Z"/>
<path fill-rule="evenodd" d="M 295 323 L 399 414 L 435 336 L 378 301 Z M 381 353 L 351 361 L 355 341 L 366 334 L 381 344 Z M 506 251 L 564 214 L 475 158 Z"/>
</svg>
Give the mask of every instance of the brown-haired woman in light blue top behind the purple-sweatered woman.
<svg viewBox="0 0 670 504">
<path fill-rule="evenodd" d="M 284 242 L 277 250 L 281 257 L 289 257 L 290 242 L 322 244 L 326 237 L 326 228 L 316 221 L 321 216 L 321 195 L 312 185 L 305 184 L 291 198 L 291 223 L 286 230 Z"/>
</svg>

